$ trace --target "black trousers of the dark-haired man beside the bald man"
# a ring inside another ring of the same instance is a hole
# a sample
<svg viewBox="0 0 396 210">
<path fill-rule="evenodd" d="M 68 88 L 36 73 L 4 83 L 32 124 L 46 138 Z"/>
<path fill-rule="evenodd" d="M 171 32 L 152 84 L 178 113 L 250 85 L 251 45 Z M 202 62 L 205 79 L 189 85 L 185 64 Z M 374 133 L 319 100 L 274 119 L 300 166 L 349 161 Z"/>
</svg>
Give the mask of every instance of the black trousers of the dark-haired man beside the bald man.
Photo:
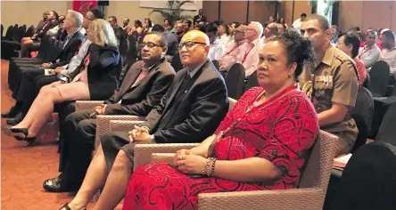
<svg viewBox="0 0 396 210">
<path fill-rule="evenodd" d="M 71 113 L 64 121 L 62 155 L 60 164 L 63 179 L 72 186 L 80 186 L 91 163 L 95 147 L 96 119 L 92 110 Z"/>
</svg>

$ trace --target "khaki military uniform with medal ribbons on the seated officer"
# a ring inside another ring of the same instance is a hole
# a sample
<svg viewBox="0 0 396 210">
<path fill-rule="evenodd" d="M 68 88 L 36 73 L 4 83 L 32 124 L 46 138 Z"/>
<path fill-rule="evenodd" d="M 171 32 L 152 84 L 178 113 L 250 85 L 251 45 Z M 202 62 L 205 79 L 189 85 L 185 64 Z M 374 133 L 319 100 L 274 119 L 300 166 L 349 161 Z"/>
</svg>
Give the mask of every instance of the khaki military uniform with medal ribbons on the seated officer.
<svg viewBox="0 0 396 210">
<path fill-rule="evenodd" d="M 338 136 L 336 156 L 349 153 L 359 133 L 355 120 L 351 117 L 359 88 L 355 63 L 348 55 L 329 44 L 323 61 L 316 69 L 303 69 L 299 85 L 310 97 L 318 114 L 331 109 L 333 102 L 349 108 L 342 122 L 320 127 L 321 130 Z"/>
</svg>

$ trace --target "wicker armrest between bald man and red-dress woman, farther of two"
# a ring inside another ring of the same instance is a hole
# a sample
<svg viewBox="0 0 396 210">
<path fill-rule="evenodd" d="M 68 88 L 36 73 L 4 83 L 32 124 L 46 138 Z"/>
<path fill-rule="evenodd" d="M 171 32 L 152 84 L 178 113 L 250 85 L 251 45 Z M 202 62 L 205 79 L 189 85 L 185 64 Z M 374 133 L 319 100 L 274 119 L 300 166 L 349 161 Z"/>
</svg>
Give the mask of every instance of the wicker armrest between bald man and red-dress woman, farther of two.
<svg viewBox="0 0 396 210">
<path fill-rule="evenodd" d="M 136 144 L 134 170 L 139 166 L 149 164 L 153 153 L 176 153 L 179 149 L 192 149 L 198 145 L 198 143 Z"/>
</svg>

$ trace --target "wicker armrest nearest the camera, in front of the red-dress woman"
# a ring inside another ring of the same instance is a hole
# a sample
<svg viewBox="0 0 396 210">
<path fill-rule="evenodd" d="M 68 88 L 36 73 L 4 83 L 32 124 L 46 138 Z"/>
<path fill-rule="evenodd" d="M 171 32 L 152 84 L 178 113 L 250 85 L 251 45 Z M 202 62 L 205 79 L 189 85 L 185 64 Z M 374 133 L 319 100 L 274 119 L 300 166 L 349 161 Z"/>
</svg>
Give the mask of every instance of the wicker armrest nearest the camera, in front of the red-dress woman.
<svg viewBox="0 0 396 210">
<path fill-rule="evenodd" d="M 316 188 L 202 193 L 198 204 L 200 210 L 245 209 L 246 205 L 249 209 L 321 210 L 325 193 Z"/>
</svg>

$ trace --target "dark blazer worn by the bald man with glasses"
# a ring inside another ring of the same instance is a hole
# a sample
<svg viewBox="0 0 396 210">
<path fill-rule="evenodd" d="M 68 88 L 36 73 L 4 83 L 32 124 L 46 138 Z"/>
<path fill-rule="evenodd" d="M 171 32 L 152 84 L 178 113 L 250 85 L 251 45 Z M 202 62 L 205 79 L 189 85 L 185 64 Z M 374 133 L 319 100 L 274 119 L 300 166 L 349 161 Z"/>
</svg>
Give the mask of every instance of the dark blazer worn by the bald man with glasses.
<svg viewBox="0 0 396 210">
<path fill-rule="evenodd" d="M 187 93 L 175 101 L 187 73 L 187 69 L 177 72 L 168 93 L 140 125 L 150 128 L 157 143 L 201 142 L 214 133 L 227 114 L 226 83 L 209 60 L 190 79 L 193 85 Z"/>
</svg>

